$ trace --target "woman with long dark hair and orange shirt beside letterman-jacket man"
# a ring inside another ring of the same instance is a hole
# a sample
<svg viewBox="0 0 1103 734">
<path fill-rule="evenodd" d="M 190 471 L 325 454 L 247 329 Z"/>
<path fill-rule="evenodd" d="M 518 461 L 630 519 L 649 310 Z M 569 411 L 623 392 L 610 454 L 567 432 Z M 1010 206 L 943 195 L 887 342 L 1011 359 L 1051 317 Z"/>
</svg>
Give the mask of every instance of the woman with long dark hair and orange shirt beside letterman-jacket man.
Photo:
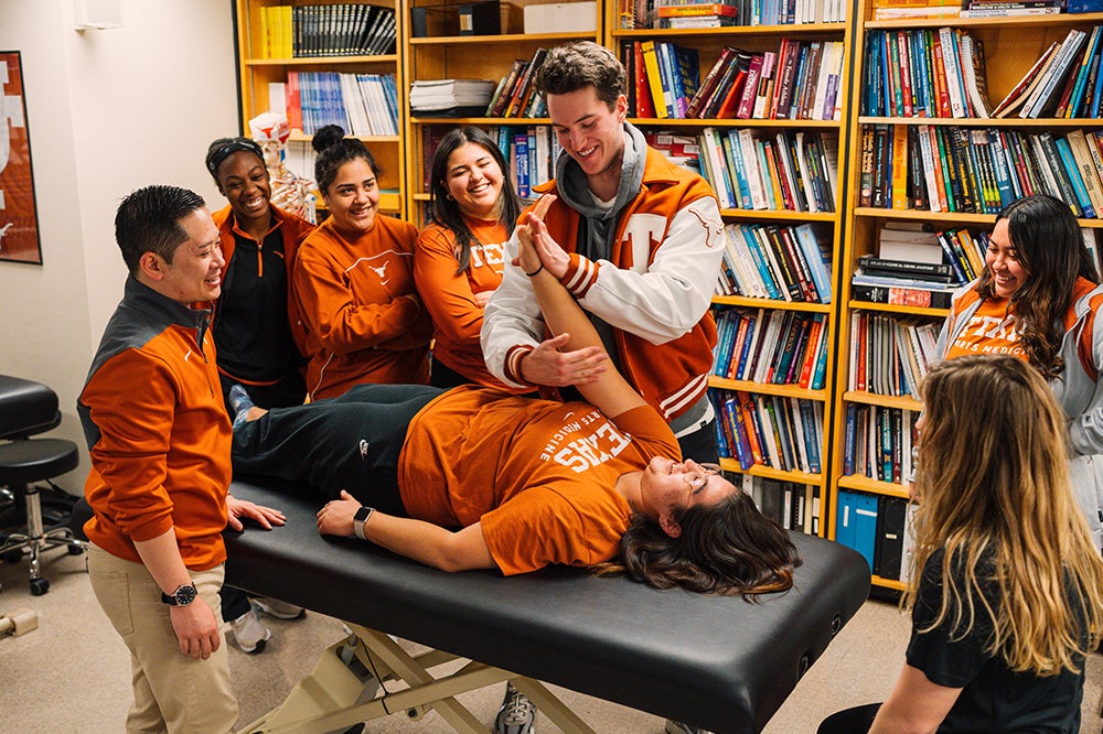
<svg viewBox="0 0 1103 734">
<path fill-rule="evenodd" d="M 524 391 L 490 374 L 479 345 L 483 306 L 502 283 L 505 244 L 521 215 L 507 175 L 502 151 L 480 128 L 450 131 L 433 154 L 431 222 L 418 235 L 414 279 L 432 315 L 436 387 L 474 382 Z"/>
</svg>

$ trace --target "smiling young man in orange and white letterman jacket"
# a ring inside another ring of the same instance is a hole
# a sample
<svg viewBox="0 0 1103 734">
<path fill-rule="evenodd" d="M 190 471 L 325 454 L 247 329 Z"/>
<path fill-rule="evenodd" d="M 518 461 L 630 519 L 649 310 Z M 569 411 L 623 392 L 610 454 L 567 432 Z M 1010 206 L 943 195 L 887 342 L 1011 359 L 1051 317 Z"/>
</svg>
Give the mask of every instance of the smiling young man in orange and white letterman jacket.
<svg viewBox="0 0 1103 734">
<path fill-rule="evenodd" d="M 566 153 L 556 180 L 536 187 L 557 197 L 534 233 L 554 252 L 547 268 L 590 314 L 621 374 L 674 429 L 683 455 L 715 462 L 706 388 L 716 344 L 708 305 L 724 250 L 716 196 L 625 121 L 627 75 L 609 50 L 591 42 L 553 48 L 536 85 Z M 515 241 L 508 247 L 516 252 Z M 526 273 L 506 266 L 483 320 L 486 366 L 511 386 L 545 392 L 600 368 L 545 338 Z"/>
</svg>

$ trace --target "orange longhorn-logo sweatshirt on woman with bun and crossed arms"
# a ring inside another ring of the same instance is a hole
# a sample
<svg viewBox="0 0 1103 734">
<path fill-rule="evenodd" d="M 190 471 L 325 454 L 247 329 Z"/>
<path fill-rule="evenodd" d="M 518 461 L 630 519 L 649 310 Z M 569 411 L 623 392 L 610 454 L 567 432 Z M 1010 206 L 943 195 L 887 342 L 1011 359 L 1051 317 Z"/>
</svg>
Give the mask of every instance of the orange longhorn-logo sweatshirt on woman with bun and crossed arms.
<svg viewBox="0 0 1103 734">
<path fill-rule="evenodd" d="M 414 225 L 378 215 L 355 240 L 328 219 L 300 246 L 292 290 L 311 399 L 361 382 L 428 384 L 432 322 L 414 288 L 416 239 Z"/>
</svg>

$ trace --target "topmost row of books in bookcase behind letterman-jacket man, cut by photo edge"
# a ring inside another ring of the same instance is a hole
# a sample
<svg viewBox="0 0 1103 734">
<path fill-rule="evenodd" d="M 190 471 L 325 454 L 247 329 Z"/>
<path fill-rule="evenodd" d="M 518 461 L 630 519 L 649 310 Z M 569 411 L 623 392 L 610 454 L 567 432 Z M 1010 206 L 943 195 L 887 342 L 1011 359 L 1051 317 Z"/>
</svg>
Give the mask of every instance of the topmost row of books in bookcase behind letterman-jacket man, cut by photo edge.
<svg viewBox="0 0 1103 734">
<path fill-rule="evenodd" d="M 621 30 L 651 28 L 717 28 L 724 25 L 795 25 L 844 23 L 850 3 L 844 0 L 617 0 Z M 693 12 L 695 6 L 707 11 Z M 726 10 L 717 10 L 722 6 Z M 730 10 L 727 10 L 730 8 Z M 678 12 L 681 11 L 681 12 Z M 715 24 L 672 24 L 675 19 L 717 17 Z"/>
</svg>

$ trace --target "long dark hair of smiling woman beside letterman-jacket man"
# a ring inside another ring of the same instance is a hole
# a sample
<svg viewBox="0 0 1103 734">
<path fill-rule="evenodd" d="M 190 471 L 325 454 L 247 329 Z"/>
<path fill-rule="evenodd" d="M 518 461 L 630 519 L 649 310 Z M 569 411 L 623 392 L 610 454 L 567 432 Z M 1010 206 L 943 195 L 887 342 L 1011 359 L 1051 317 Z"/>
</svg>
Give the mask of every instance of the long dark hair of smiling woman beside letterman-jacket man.
<svg viewBox="0 0 1103 734">
<path fill-rule="evenodd" d="M 480 128 L 465 126 L 450 130 L 441 138 L 432 155 L 432 172 L 429 175 L 429 219 L 456 233 L 454 255 L 456 261 L 459 262 L 456 274 L 471 267 L 471 246 L 483 244 L 471 234 L 471 228 L 463 220 L 460 205 L 448 191 L 448 159 L 465 143 L 474 143 L 484 149 L 502 170 L 502 191 L 499 192 L 495 206 L 497 220 L 507 227 L 513 227 L 521 216 L 521 201 L 513 188 L 510 163 L 490 136 Z"/>
</svg>

